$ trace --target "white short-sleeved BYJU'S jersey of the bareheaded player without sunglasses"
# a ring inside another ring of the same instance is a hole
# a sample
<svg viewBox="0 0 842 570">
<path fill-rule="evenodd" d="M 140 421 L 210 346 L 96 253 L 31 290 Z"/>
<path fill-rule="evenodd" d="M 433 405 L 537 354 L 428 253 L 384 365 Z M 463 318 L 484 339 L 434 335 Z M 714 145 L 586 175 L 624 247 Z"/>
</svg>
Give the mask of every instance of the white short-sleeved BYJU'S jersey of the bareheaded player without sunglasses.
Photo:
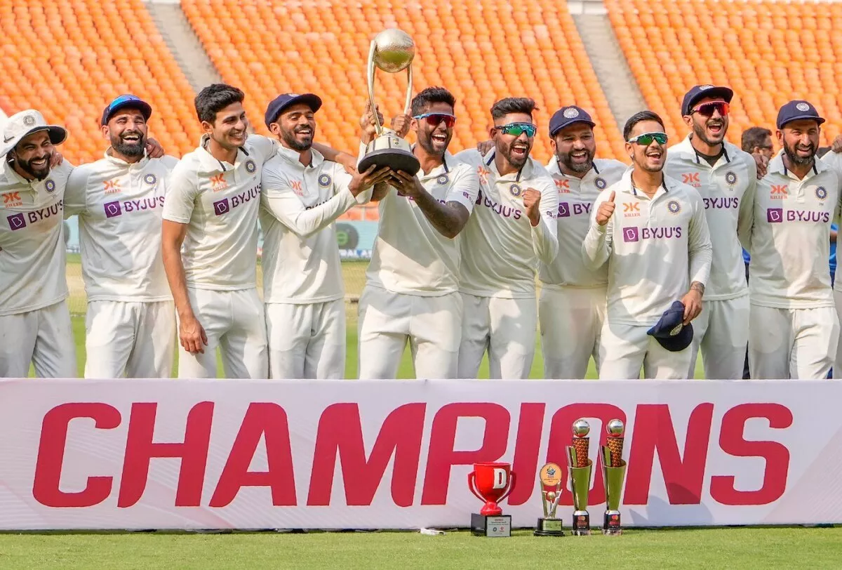
<svg viewBox="0 0 842 570">
<path fill-rule="evenodd" d="M 187 286 L 242 290 L 257 286 L 260 171 L 274 142 L 251 135 L 234 164 L 205 150 L 209 136 L 173 168 L 163 219 L 187 224 L 181 258 Z"/>
</svg>

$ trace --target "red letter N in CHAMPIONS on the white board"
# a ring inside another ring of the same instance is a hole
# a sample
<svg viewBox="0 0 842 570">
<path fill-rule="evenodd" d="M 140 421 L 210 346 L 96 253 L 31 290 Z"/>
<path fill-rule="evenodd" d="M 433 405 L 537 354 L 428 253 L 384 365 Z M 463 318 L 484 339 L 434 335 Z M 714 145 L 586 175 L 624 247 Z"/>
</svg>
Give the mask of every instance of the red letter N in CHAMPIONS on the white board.
<svg viewBox="0 0 842 570">
<path fill-rule="evenodd" d="M 701 485 L 705 478 L 712 418 L 713 404 L 710 402 L 699 404 L 690 413 L 685 438 L 685 455 L 682 459 L 675 439 L 669 406 L 667 404 L 638 405 L 623 503 L 647 503 L 656 450 L 667 487 L 669 503 L 701 503 Z"/>
</svg>

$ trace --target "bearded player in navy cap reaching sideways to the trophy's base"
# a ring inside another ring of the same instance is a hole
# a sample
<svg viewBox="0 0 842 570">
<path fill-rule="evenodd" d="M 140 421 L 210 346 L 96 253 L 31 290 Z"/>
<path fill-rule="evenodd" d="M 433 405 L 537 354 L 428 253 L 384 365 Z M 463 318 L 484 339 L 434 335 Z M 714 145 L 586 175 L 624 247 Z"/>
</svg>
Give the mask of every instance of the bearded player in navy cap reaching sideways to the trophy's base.
<svg viewBox="0 0 842 570">
<path fill-rule="evenodd" d="M 382 168 L 351 176 L 312 148 L 322 99 L 279 95 L 265 122 L 280 146 L 264 164 L 264 301 L 272 378 L 343 378 L 345 301 L 333 221 L 385 180 Z"/>
</svg>

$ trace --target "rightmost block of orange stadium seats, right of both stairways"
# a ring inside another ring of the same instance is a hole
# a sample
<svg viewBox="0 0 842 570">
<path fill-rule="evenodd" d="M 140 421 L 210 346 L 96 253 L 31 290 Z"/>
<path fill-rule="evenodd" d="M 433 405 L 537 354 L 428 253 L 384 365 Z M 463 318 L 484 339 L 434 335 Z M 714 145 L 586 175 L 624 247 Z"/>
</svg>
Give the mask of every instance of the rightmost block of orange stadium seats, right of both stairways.
<svg viewBox="0 0 842 570">
<path fill-rule="evenodd" d="M 828 120 L 822 144 L 842 130 L 836 79 L 838 3 L 770 0 L 605 0 L 612 26 L 650 109 L 683 137 L 681 99 L 692 85 L 734 89 L 727 138 L 751 126 L 775 130 L 777 111 L 807 99 Z"/>
</svg>

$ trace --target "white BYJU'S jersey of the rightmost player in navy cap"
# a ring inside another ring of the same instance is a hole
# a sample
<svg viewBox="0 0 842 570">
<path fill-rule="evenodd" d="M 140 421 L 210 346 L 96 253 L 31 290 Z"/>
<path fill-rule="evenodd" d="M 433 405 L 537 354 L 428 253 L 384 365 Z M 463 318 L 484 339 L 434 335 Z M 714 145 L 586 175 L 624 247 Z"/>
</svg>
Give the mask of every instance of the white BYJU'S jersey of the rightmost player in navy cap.
<svg viewBox="0 0 842 570">
<path fill-rule="evenodd" d="M 758 181 L 754 224 L 740 232 L 751 254 L 751 303 L 781 309 L 834 306 L 830 225 L 839 210 L 842 176 L 819 160 L 799 180 L 782 157 L 782 152 L 773 157 Z"/>
</svg>

